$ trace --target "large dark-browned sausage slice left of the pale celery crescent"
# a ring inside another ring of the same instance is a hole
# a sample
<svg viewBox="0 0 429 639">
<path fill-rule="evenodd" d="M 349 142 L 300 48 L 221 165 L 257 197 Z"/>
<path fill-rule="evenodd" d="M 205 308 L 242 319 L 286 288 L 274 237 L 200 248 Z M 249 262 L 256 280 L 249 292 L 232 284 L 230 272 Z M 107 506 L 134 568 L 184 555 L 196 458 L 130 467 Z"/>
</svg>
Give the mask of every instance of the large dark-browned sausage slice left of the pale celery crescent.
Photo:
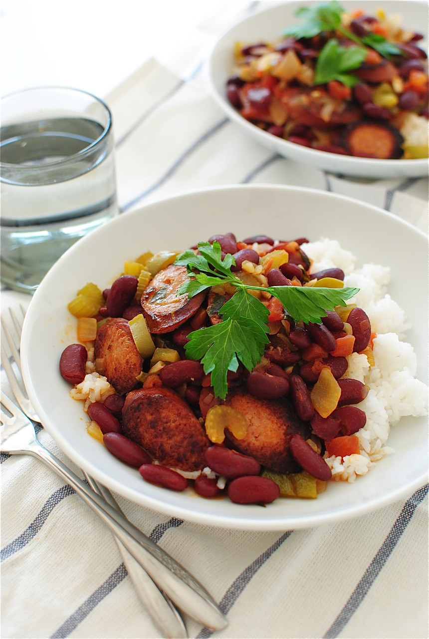
<svg viewBox="0 0 429 639">
<path fill-rule="evenodd" d="M 191 408 L 173 390 L 133 390 L 122 414 L 124 435 L 162 465 L 191 472 L 204 468 L 209 440 Z"/>
</svg>

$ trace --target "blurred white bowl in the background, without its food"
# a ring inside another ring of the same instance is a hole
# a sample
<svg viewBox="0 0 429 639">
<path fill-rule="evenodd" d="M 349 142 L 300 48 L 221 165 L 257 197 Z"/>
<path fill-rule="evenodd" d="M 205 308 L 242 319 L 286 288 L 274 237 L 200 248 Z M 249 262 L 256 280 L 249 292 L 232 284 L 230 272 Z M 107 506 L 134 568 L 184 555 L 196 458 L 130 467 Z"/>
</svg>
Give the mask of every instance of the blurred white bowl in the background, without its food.
<svg viewBox="0 0 429 639">
<path fill-rule="evenodd" d="M 277 3 L 275 6 L 255 13 L 230 27 L 216 41 L 209 53 L 206 65 L 207 81 L 216 102 L 232 121 L 241 129 L 269 149 L 279 155 L 309 166 L 350 176 L 365 178 L 405 178 L 428 175 L 428 160 L 377 160 L 360 158 L 338 153 L 327 153 L 288 142 L 256 127 L 243 118 L 226 98 L 226 82 L 234 65 L 233 50 L 236 42 L 273 42 L 282 35 L 282 30 L 290 24 L 299 22 L 294 15 L 296 9 L 303 4 L 315 4 L 302 0 L 298 2 Z M 378 0 L 347 0 L 343 6 L 350 11 L 362 8 L 368 13 L 375 13 L 380 8 Z M 403 26 L 415 30 L 425 36 L 419 46 L 427 50 L 428 40 L 428 7 L 427 3 L 413 0 L 390 0 L 382 3 L 388 15 L 401 14 Z"/>
</svg>

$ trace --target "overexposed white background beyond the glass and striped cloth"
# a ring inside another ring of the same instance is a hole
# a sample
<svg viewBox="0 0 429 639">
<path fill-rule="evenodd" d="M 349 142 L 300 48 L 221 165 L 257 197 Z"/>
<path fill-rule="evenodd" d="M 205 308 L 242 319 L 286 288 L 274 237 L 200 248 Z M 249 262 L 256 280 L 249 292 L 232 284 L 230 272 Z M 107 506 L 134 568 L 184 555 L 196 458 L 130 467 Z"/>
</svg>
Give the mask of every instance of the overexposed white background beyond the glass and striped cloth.
<svg viewBox="0 0 429 639">
<path fill-rule="evenodd" d="M 245 3 L 248 4 L 248 3 Z M 150 57 L 174 68 L 237 0 L 1 0 L 0 94 L 62 85 L 103 97 Z"/>
</svg>

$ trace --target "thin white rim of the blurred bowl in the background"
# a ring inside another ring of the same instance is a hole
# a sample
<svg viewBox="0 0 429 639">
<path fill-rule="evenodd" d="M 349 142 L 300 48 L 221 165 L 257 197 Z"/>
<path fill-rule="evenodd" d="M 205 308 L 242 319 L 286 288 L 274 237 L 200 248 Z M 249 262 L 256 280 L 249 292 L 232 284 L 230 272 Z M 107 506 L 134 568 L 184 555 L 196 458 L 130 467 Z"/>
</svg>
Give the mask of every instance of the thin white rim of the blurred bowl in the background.
<svg viewBox="0 0 429 639">
<path fill-rule="evenodd" d="M 373 171 L 376 171 L 377 169 L 382 170 L 384 169 L 384 172 L 387 171 L 387 169 L 389 168 L 394 168 L 396 167 L 396 169 L 407 169 L 407 173 L 405 173 L 404 171 L 404 177 L 405 175 L 410 175 L 410 167 L 415 167 L 417 173 L 416 175 L 419 176 L 424 176 L 424 169 L 426 167 L 426 172 L 429 171 L 429 158 L 411 158 L 409 160 L 405 160 L 405 159 L 398 159 L 398 160 L 393 160 L 393 159 L 380 159 L 380 158 L 363 158 L 363 157 L 357 157 L 357 156 L 353 156 L 353 155 L 342 155 L 340 153 L 328 153 L 327 151 L 322 151 L 319 149 L 313 149 L 313 148 L 308 148 L 306 146 L 301 146 L 299 144 L 296 144 L 295 142 L 289 142 L 288 140 L 285 140 L 281 137 L 276 137 L 273 136 L 272 134 L 267 133 L 265 130 L 263 130 L 262 128 L 257 127 L 256 125 L 253 125 L 250 121 L 246 120 L 245 118 L 243 118 L 243 116 L 241 116 L 239 114 L 239 112 L 236 111 L 236 109 L 234 109 L 232 107 L 232 105 L 229 104 L 229 102 L 226 99 L 226 96 L 222 95 L 222 93 L 218 90 L 218 87 L 216 86 L 216 79 L 215 79 L 215 73 L 214 73 L 214 68 L 213 68 L 213 61 L 215 59 L 215 56 L 218 52 L 218 50 L 222 47 L 223 42 L 227 39 L 230 38 L 230 36 L 236 31 L 236 29 L 238 29 L 239 27 L 246 25 L 247 22 L 253 22 L 253 20 L 255 20 L 258 16 L 260 16 L 262 13 L 264 15 L 269 15 L 269 13 L 273 13 L 276 14 L 278 13 L 280 10 L 282 10 L 283 6 L 286 6 L 288 4 L 303 4 L 305 0 L 292 0 L 292 2 L 279 2 L 277 4 L 275 4 L 274 6 L 270 6 L 267 8 L 263 8 L 259 11 L 257 11 L 256 13 L 253 13 L 252 15 L 246 16 L 245 18 L 241 19 L 241 20 L 237 20 L 234 24 L 229 25 L 229 27 L 227 27 L 215 40 L 215 42 L 211 43 L 211 47 L 209 49 L 209 51 L 207 52 L 207 56 L 205 59 L 205 63 L 204 63 L 204 75 L 206 77 L 206 82 L 209 86 L 209 89 L 211 91 L 211 94 L 213 95 L 213 97 L 215 98 L 216 102 L 218 105 L 220 105 L 220 107 L 223 109 L 223 111 L 227 114 L 227 116 L 229 117 L 229 119 L 231 119 L 232 121 L 236 122 L 237 124 L 241 125 L 241 127 L 243 127 L 249 134 L 251 134 L 253 137 L 258 137 L 261 141 L 263 141 L 265 144 L 269 144 L 271 142 L 270 146 L 273 146 L 274 144 L 276 144 L 276 146 L 280 146 L 282 148 L 285 149 L 285 157 L 289 158 L 289 155 L 286 155 L 286 151 L 289 151 L 289 153 L 292 153 L 292 155 L 294 156 L 298 156 L 299 161 L 305 162 L 305 160 L 308 160 L 310 158 L 320 158 L 320 162 L 315 165 L 318 166 L 319 164 L 322 164 L 323 160 L 329 161 L 332 160 L 333 157 L 335 158 L 340 158 L 342 162 L 345 162 L 345 167 L 347 167 L 348 165 L 352 166 L 356 166 L 357 167 L 357 171 L 359 171 L 359 173 L 356 173 L 357 175 L 363 176 L 362 171 L 365 172 L 365 167 L 368 167 L 368 171 L 371 171 L 371 168 L 373 169 Z M 413 2 L 416 5 L 424 5 L 424 2 L 421 2 L 419 0 L 407 0 L 407 3 L 409 2 Z M 228 76 L 225 75 L 225 79 Z M 273 140 L 274 138 L 274 140 Z M 368 166 L 368 161 L 370 162 L 369 166 Z M 392 164 L 393 163 L 393 164 Z M 326 169 L 327 171 L 329 171 L 329 169 Z M 354 174 L 353 171 L 347 172 L 344 171 L 345 174 L 352 176 Z M 366 173 L 366 172 L 365 172 Z M 370 176 L 370 175 L 368 175 Z M 377 175 L 375 175 L 377 177 Z"/>
</svg>

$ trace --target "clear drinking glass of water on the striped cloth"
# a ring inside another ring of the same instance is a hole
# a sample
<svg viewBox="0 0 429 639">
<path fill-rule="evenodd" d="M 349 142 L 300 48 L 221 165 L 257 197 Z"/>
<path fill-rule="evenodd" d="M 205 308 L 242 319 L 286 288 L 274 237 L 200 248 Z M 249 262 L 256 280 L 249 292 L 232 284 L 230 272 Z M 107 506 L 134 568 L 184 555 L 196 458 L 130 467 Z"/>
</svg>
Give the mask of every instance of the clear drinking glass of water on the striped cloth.
<svg viewBox="0 0 429 639">
<path fill-rule="evenodd" d="M 0 277 L 33 293 L 76 240 L 118 213 L 109 107 L 79 89 L 1 100 Z"/>
</svg>

